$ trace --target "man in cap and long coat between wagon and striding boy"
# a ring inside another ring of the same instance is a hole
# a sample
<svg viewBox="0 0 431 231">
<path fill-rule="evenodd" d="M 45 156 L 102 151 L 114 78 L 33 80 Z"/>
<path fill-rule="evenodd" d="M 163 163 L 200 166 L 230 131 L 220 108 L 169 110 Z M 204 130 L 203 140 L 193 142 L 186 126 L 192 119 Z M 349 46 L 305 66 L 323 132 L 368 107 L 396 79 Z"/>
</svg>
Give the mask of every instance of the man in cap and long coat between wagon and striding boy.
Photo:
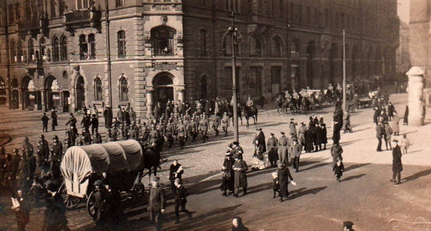
<svg viewBox="0 0 431 231">
<path fill-rule="evenodd" d="M 159 216 L 161 213 L 164 213 L 165 208 L 165 195 L 164 190 L 159 185 L 160 178 L 153 177 L 151 184 L 152 186 L 149 189 L 149 200 L 148 200 L 148 211 L 150 213 L 150 222 L 154 222 L 156 226 L 156 230 L 160 230 L 159 224 Z"/>
</svg>

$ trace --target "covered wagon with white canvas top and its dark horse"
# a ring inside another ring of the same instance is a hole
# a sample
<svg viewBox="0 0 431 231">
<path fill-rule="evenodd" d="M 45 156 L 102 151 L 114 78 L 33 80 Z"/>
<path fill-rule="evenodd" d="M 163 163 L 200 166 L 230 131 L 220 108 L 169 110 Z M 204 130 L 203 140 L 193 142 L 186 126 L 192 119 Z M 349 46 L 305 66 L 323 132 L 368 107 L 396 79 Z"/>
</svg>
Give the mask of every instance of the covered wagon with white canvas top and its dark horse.
<svg viewBox="0 0 431 231">
<path fill-rule="evenodd" d="M 145 189 L 141 183 L 146 175 L 144 169 L 148 168 L 151 175 L 152 168 L 157 168 L 159 164 L 160 158 L 145 152 L 135 140 L 73 146 L 67 149 L 60 165 L 64 183 L 59 192 L 68 208 L 76 207 L 82 199 L 87 199 L 87 210 L 95 217 L 94 183 L 97 180 L 109 182 L 112 189 L 131 195 L 132 200 L 137 202 L 144 196 Z"/>
</svg>

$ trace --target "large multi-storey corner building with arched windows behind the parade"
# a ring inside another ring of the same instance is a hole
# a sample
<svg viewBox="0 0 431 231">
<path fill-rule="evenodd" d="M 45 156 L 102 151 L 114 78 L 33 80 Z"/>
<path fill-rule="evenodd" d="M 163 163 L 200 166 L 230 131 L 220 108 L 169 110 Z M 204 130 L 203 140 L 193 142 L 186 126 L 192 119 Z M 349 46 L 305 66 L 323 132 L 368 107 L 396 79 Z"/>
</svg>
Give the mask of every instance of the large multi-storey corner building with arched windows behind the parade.
<svg viewBox="0 0 431 231">
<path fill-rule="evenodd" d="M 168 99 L 230 99 L 232 11 L 241 101 L 341 82 L 343 29 L 349 82 L 395 73 L 395 0 L 0 0 L 0 7 L 0 104 L 10 108 L 130 105 L 145 117 Z"/>
</svg>

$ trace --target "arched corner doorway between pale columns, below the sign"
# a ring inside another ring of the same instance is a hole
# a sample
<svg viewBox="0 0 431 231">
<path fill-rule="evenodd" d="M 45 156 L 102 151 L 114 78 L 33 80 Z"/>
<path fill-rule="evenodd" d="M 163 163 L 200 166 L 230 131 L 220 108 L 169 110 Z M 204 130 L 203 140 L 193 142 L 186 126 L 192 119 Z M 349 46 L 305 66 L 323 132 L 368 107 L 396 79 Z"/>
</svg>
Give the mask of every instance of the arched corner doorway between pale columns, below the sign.
<svg viewBox="0 0 431 231">
<path fill-rule="evenodd" d="M 155 89 L 154 102 L 158 102 L 164 108 L 167 100 L 174 100 L 174 76 L 169 73 L 160 73 L 154 77 L 153 86 Z"/>
</svg>

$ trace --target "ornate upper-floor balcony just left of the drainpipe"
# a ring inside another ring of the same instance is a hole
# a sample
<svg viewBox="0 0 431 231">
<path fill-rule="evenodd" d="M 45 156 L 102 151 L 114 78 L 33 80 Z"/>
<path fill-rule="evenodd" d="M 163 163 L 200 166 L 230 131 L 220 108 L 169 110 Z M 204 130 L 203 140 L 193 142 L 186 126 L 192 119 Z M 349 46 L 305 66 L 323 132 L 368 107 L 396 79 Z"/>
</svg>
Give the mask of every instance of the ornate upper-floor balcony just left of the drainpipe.
<svg viewBox="0 0 431 231">
<path fill-rule="evenodd" d="M 66 31 L 74 34 L 76 29 L 93 27 L 101 33 L 102 30 L 102 12 L 91 9 L 81 9 L 75 11 L 69 11 L 64 14 L 64 24 L 66 25 Z"/>
</svg>

